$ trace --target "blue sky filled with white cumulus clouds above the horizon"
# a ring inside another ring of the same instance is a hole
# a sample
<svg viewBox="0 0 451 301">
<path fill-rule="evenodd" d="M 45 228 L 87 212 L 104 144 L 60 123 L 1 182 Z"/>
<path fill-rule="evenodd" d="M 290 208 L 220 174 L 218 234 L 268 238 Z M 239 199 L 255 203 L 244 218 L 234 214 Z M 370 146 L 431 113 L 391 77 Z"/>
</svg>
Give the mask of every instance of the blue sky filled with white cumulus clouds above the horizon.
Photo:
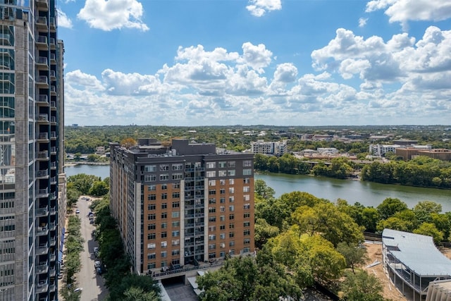
<svg viewBox="0 0 451 301">
<path fill-rule="evenodd" d="M 451 121 L 450 0 L 58 0 L 65 124 Z"/>
</svg>

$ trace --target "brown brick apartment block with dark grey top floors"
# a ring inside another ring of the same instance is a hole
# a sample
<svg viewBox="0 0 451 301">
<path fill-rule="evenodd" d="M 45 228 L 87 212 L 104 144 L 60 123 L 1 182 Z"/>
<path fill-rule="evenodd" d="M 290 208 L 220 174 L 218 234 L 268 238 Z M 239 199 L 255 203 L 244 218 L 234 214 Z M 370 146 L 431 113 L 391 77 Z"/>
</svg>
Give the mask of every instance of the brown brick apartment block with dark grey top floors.
<svg viewBox="0 0 451 301">
<path fill-rule="evenodd" d="M 139 273 L 254 252 L 254 154 L 111 143 L 111 211 Z"/>
</svg>

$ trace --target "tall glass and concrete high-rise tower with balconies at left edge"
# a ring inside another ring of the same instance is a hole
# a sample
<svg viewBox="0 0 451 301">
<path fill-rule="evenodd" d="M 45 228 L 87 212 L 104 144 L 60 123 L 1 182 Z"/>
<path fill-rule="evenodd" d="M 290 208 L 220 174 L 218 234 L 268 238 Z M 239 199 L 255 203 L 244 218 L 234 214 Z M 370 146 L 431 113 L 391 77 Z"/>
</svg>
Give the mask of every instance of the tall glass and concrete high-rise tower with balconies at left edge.
<svg viewBox="0 0 451 301">
<path fill-rule="evenodd" d="M 62 62 L 55 0 L 0 0 L 0 300 L 58 299 Z"/>
</svg>

